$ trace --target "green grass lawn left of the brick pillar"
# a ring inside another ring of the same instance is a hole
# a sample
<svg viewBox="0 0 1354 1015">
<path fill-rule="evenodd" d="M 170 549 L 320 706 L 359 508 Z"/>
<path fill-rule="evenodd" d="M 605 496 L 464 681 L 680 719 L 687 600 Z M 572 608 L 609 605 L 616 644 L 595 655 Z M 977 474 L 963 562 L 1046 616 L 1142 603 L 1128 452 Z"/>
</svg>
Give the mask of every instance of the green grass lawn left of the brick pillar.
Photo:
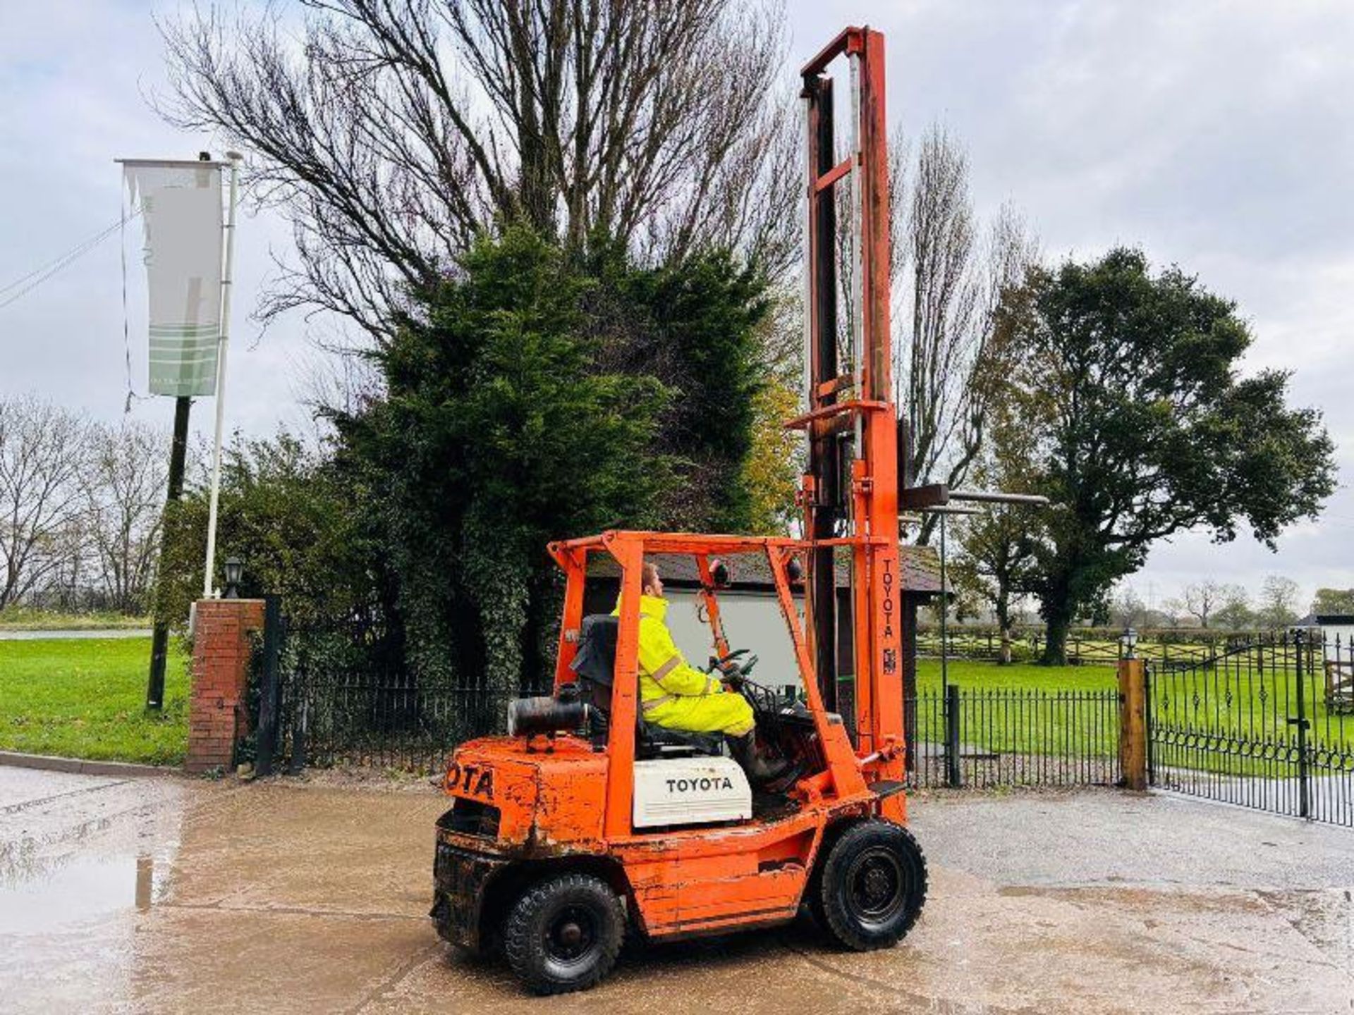
<svg viewBox="0 0 1354 1015">
<path fill-rule="evenodd" d="M 171 643 L 162 713 L 146 712 L 150 639 L 0 641 L 0 750 L 177 765 L 188 671 Z"/>
</svg>

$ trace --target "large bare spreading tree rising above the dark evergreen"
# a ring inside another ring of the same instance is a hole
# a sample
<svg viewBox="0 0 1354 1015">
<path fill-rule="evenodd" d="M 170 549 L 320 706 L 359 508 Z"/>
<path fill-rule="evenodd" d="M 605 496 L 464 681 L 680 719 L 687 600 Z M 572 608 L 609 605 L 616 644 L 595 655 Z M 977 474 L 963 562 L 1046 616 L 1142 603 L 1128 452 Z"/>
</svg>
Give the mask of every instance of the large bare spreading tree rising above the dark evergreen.
<svg viewBox="0 0 1354 1015">
<path fill-rule="evenodd" d="M 651 257 L 796 256 L 783 12 L 757 0 L 302 0 L 162 26 L 171 122 L 252 153 L 297 264 L 264 317 L 321 307 L 380 338 L 482 230 L 593 230 Z M 299 34 L 299 43 L 295 35 Z M 787 84 L 788 84 L 788 78 Z"/>
</svg>

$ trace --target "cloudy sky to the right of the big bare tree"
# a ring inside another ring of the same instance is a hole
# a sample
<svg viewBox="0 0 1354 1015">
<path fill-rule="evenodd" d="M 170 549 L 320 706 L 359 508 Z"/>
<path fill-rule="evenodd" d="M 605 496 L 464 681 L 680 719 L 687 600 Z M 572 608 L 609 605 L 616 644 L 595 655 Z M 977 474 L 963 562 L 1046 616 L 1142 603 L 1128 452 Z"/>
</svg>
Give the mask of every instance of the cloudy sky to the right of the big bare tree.
<svg viewBox="0 0 1354 1015">
<path fill-rule="evenodd" d="M 906 133 L 946 123 L 969 148 L 979 208 L 1014 203 L 1051 257 L 1141 246 L 1238 300 L 1247 369 L 1293 371 L 1324 411 L 1342 489 L 1278 554 L 1189 533 L 1135 582 L 1204 577 L 1307 591 L 1354 586 L 1354 5 L 1215 0 L 987 0 L 789 8 L 798 57 L 845 23 L 886 32 L 888 108 Z M 1144 585 L 1145 587 L 1145 585 Z"/>
</svg>

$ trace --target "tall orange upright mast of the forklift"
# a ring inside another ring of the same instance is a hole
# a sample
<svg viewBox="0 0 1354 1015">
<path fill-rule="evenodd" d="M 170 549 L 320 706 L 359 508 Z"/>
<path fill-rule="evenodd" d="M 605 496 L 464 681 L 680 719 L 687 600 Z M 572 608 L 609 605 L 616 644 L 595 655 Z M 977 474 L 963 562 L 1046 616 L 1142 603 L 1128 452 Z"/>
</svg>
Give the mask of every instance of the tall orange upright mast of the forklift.
<svg viewBox="0 0 1354 1015">
<path fill-rule="evenodd" d="M 827 73 L 838 57 L 846 58 L 850 81 L 841 160 Z M 846 28 L 802 74 L 807 411 L 787 426 L 806 430 L 808 438 L 800 491 L 811 544 L 807 627 L 819 692 L 833 710 L 839 708 L 838 681 L 845 675 L 838 660 L 848 656 L 838 647 L 850 650 L 857 751 L 900 751 L 899 430 L 888 323 L 884 37 Z M 838 202 L 842 187 L 849 199 Z M 849 208 L 844 234 L 838 207 Z M 838 554 L 850 559 L 850 610 L 844 614 L 837 609 Z"/>
</svg>

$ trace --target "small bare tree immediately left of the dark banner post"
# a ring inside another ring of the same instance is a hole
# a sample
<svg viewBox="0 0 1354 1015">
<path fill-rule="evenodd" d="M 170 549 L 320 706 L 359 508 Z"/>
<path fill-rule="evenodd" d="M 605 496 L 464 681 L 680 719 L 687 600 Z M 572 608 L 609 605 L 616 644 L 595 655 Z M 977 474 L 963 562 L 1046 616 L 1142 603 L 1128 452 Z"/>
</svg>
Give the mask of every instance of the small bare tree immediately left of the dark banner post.
<svg viewBox="0 0 1354 1015">
<path fill-rule="evenodd" d="M 144 424 L 96 426 L 83 476 L 88 543 L 114 609 L 146 609 L 168 478 L 168 438 Z"/>
</svg>

